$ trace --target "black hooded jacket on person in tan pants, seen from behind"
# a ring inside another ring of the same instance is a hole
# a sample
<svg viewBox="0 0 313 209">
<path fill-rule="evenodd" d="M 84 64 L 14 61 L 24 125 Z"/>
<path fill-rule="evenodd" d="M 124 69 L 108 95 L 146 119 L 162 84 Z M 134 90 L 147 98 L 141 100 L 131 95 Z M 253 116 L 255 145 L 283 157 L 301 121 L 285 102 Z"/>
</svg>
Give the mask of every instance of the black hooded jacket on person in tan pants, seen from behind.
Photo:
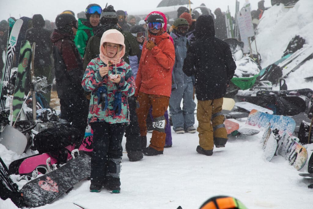
<svg viewBox="0 0 313 209">
<path fill-rule="evenodd" d="M 224 97 L 236 64 L 228 44 L 215 38 L 213 18 L 201 15 L 196 22 L 196 41 L 187 50 L 183 72 L 195 76 L 198 100 Z"/>
</svg>

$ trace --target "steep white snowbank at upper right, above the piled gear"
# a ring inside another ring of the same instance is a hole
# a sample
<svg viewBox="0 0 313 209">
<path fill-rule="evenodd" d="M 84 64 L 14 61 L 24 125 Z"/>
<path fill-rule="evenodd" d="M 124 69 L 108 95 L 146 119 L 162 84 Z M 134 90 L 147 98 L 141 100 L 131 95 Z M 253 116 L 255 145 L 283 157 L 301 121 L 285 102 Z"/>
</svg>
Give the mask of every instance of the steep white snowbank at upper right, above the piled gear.
<svg viewBox="0 0 313 209">
<path fill-rule="evenodd" d="M 256 35 L 262 68 L 279 60 L 295 35 L 303 37 L 306 44 L 313 45 L 312 8 L 312 0 L 300 0 L 294 8 L 280 4 L 264 11 Z M 251 45 L 255 46 L 254 43 Z"/>
</svg>

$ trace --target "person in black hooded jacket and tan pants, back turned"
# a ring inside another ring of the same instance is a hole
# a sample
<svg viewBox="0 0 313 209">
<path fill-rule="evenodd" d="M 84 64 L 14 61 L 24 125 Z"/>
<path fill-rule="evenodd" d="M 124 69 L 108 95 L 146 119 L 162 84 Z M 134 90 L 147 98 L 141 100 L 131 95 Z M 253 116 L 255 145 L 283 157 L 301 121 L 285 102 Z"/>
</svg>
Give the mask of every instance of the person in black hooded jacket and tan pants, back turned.
<svg viewBox="0 0 313 209">
<path fill-rule="evenodd" d="M 198 99 L 197 119 L 199 146 L 197 152 L 213 154 L 213 147 L 227 142 L 222 115 L 223 97 L 236 70 L 228 44 L 215 38 L 213 18 L 201 15 L 196 21 L 196 41 L 187 50 L 183 72 L 195 76 Z M 212 122 L 212 125 L 211 125 Z"/>
</svg>

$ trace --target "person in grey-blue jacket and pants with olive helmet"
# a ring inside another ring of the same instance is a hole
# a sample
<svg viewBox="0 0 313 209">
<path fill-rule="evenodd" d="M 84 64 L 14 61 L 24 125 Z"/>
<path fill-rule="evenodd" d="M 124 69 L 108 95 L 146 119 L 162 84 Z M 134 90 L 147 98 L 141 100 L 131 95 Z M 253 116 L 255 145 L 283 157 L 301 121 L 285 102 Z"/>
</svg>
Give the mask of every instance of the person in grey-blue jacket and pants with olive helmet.
<svg viewBox="0 0 313 209">
<path fill-rule="evenodd" d="M 173 25 L 171 36 L 175 46 L 175 64 L 173 67 L 173 80 L 176 83 L 176 89 L 172 91 L 170 97 L 170 113 L 172 115 L 173 130 L 175 133 L 196 133 L 193 127 L 195 123 L 194 109 L 196 103 L 193 101 L 193 83 L 191 76 L 186 76 L 182 71 L 184 59 L 187 55 L 187 45 L 189 41 L 186 33 L 189 23 L 184 18 L 177 18 Z M 181 108 L 181 101 L 183 106 Z"/>
</svg>

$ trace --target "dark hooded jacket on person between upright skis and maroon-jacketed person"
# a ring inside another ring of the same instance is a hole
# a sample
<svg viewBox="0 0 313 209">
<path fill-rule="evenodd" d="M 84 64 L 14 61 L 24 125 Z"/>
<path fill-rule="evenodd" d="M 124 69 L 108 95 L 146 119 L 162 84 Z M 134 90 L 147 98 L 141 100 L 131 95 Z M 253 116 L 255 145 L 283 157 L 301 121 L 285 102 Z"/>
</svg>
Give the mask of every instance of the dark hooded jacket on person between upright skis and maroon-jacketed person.
<svg viewBox="0 0 313 209">
<path fill-rule="evenodd" d="M 50 55 L 52 54 L 52 42 L 50 40 L 51 32 L 44 28 L 45 22 L 41 14 L 33 16 L 33 28 L 26 31 L 26 40 L 33 44 L 36 43 L 34 64 L 35 68 L 38 65 L 51 65 Z"/>
</svg>

